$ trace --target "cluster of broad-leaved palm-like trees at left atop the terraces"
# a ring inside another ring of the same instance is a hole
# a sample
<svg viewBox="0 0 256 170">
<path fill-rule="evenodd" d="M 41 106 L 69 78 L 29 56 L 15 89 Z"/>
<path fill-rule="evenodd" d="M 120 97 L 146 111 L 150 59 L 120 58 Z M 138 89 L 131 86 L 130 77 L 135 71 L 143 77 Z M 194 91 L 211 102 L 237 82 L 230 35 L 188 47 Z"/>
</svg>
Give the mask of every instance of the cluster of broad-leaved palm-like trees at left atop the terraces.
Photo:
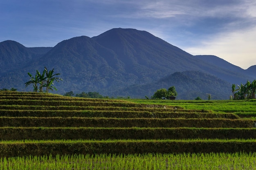
<svg viewBox="0 0 256 170">
<path fill-rule="evenodd" d="M 62 80 L 62 79 L 59 77 L 55 77 L 56 75 L 60 75 L 60 73 L 53 74 L 53 72 L 54 72 L 54 68 L 48 71 L 47 68 L 45 67 L 42 74 L 38 70 L 36 70 L 35 77 L 33 77 L 31 73 L 27 73 L 30 79 L 28 82 L 25 83 L 26 87 L 29 84 L 33 84 L 34 92 L 39 91 L 39 92 L 48 93 L 49 90 L 53 91 L 53 88 L 54 90 L 57 90 L 54 86 L 52 86 L 54 84 L 53 82 L 54 81 L 59 82 L 59 80 Z M 39 88 L 38 88 L 38 85 L 39 85 Z M 46 88 L 45 91 L 43 91 L 44 87 Z"/>
</svg>

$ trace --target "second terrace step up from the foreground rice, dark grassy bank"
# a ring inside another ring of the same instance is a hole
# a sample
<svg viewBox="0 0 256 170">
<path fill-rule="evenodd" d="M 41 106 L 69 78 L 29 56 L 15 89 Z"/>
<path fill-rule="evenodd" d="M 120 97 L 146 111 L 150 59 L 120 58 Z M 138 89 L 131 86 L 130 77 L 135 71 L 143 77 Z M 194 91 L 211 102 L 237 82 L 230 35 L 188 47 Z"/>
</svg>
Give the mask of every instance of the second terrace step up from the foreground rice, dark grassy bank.
<svg viewBox="0 0 256 170">
<path fill-rule="evenodd" d="M 255 136 L 256 128 L 0 128 L 0 140 L 252 139 Z"/>
</svg>

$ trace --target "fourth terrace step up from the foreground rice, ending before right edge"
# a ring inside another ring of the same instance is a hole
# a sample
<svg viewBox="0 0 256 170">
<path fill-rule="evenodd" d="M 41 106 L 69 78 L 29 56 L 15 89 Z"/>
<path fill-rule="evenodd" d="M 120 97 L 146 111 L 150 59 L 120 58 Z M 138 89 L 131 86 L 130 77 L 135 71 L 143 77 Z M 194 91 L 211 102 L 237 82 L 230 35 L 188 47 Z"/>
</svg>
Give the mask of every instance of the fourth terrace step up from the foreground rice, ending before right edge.
<svg viewBox="0 0 256 170">
<path fill-rule="evenodd" d="M 184 110 L 185 111 L 185 110 Z M 225 118 L 239 119 L 231 113 L 182 113 L 105 110 L 1 110 L 0 117 L 112 117 L 112 118 Z"/>
</svg>

